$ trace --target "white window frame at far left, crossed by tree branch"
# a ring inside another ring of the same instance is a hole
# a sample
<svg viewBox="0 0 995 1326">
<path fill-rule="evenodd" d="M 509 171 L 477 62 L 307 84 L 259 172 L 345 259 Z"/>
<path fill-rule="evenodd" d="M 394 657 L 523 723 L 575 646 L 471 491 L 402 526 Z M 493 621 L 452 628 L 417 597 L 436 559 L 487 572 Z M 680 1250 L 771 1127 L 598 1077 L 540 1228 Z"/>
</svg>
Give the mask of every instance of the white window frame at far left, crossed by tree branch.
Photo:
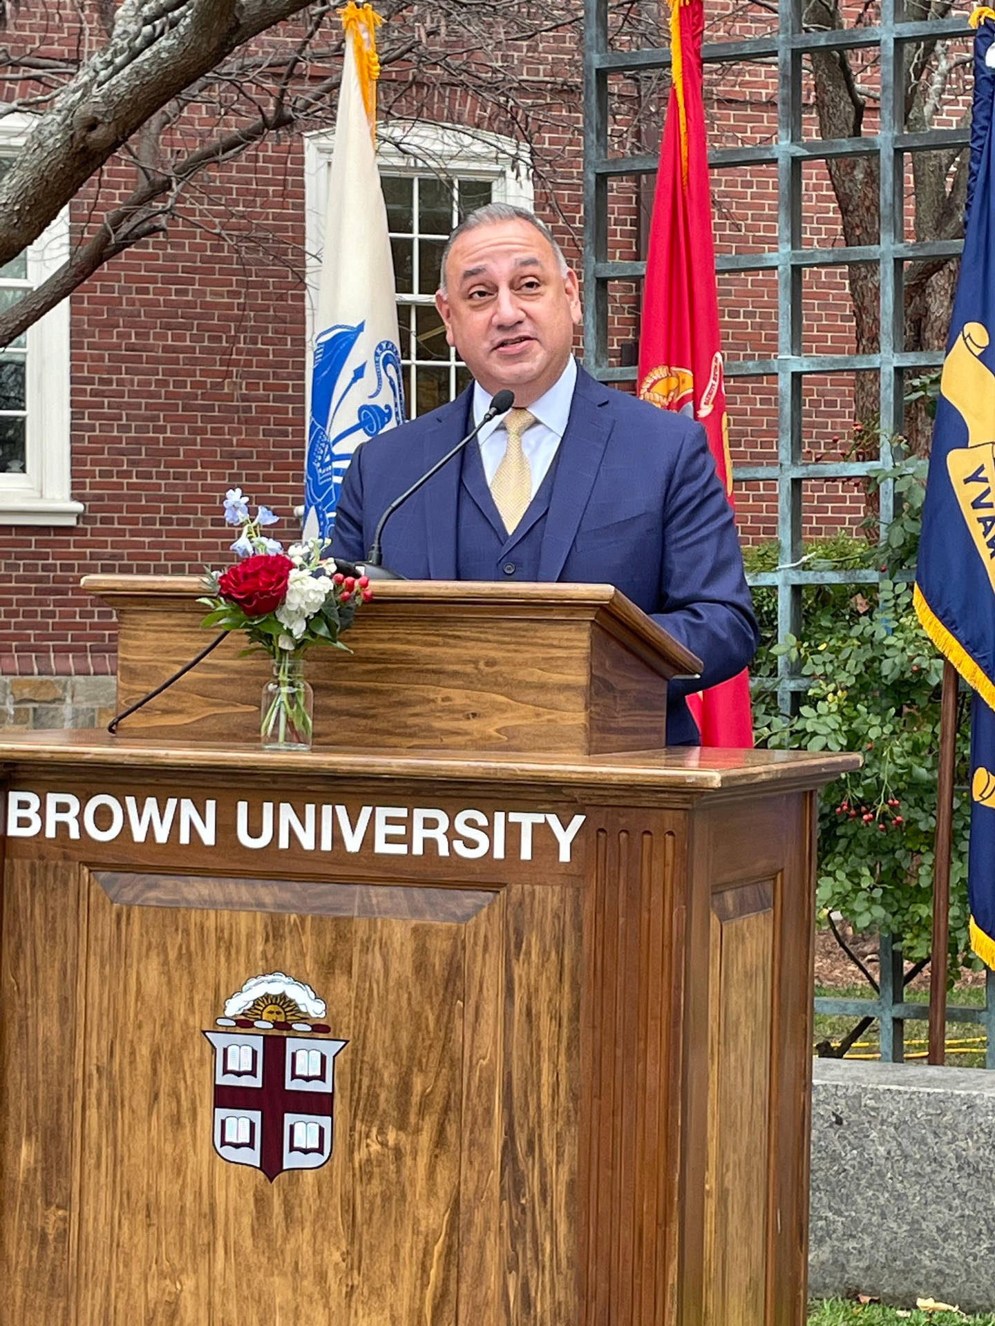
<svg viewBox="0 0 995 1326">
<path fill-rule="evenodd" d="M 24 147 L 37 117 L 0 118 L 0 155 Z M 41 285 L 69 257 L 69 208 L 28 248 L 28 286 Z M 25 465 L 0 473 L 0 525 L 74 525 L 84 504 L 72 499 L 69 300 L 28 329 Z"/>
</svg>

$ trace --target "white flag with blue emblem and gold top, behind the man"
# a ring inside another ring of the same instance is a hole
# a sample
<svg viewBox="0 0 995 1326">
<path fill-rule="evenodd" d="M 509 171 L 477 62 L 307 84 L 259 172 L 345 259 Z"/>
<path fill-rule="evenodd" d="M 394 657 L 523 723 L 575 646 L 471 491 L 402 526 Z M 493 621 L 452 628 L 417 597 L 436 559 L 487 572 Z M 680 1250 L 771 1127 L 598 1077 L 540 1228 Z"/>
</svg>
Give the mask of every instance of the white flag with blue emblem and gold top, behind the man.
<svg viewBox="0 0 995 1326">
<path fill-rule="evenodd" d="M 405 418 L 394 264 L 373 146 L 378 21 L 369 5 L 350 3 L 342 13 L 345 66 L 325 206 L 305 537 L 330 534 L 357 446 Z"/>
</svg>

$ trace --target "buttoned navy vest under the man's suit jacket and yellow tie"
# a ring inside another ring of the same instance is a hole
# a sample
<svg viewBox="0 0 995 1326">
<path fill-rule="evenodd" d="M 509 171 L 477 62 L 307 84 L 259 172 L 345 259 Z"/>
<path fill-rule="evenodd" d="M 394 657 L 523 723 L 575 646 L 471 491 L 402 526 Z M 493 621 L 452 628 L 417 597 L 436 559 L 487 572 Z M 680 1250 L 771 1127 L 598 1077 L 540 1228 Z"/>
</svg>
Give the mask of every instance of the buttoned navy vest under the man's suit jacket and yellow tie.
<svg viewBox="0 0 995 1326">
<path fill-rule="evenodd" d="M 456 579 L 537 579 L 559 455 L 557 448 L 539 492 L 515 533 L 508 534 L 487 487 L 479 446 L 471 443 L 463 451 L 456 507 Z"/>
</svg>

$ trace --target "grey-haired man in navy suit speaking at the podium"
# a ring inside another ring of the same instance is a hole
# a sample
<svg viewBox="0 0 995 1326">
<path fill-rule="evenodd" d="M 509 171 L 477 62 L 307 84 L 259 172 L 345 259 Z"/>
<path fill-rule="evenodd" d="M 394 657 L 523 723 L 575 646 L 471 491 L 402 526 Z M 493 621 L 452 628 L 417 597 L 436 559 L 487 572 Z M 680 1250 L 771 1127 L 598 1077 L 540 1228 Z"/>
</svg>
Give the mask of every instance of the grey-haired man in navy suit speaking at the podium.
<svg viewBox="0 0 995 1326">
<path fill-rule="evenodd" d="M 362 561 L 387 507 L 468 435 L 386 522 L 383 565 L 409 579 L 614 585 L 704 660 L 667 692 L 667 744 L 696 744 L 685 696 L 735 676 L 758 644 L 704 430 L 580 367 L 577 276 L 532 212 L 492 203 L 467 216 L 435 304 L 475 381 L 357 448 L 333 554 Z M 486 419 L 501 391 L 513 407 Z"/>
</svg>

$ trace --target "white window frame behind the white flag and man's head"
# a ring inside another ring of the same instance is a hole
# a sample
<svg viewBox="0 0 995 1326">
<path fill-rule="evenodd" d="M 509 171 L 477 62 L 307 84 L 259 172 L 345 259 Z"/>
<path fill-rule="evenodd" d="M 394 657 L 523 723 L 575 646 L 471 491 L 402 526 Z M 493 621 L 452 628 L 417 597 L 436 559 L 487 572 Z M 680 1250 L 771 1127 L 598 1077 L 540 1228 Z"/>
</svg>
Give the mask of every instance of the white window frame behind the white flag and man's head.
<svg viewBox="0 0 995 1326">
<path fill-rule="evenodd" d="M 304 137 L 308 403 L 310 403 L 312 345 L 325 233 L 328 167 L 334 143 L 333 129 L 317 130 Z M 377 127 L 377 163 L 381 171 L 390 175 L 430 172 L 486 179 L 494 186 L 495 203 L 511 203 L 529 211 L 533 207 L 532 159 L 528 147 L 503 134 L 460 129 L 458 125 L 391 119 Z M 431 304 L 431 296 L 415 296 L 414 300 Z M 411 297 L 405 297 L 405 302 L 411 302 Z"/>
</svg>

